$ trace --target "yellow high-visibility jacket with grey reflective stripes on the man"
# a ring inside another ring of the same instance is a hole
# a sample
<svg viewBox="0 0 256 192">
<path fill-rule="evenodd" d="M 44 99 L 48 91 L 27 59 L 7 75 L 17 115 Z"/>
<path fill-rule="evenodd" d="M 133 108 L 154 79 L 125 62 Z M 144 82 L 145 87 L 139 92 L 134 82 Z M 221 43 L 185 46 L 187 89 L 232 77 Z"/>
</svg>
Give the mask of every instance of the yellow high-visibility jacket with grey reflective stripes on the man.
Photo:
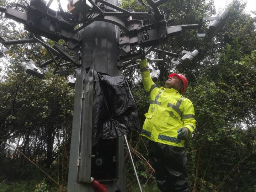
<svg viewBox="0 0 256 192">
<path fill-rule="evenodd" d="M 140 71 L 144 88 L 150 95 L 141 135 L 154 142 L 183 146 L 185 140 L 177 138 L 177 130 L 186 127 L 192 134 L 196 128 L 192 102 L 173 88 L 156 87 L 146 59 L 140 61 Z"/>
</svg>

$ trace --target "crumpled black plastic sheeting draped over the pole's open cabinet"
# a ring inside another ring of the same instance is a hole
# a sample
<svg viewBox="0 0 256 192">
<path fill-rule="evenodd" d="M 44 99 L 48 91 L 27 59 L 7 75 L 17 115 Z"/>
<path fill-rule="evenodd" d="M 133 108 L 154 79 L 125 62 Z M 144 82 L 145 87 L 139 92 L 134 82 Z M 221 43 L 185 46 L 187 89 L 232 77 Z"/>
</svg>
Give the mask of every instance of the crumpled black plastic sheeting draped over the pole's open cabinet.
<svg viewBox="0 0 256 192">
<path fill-rule="evenodd" d="M 139 129 L 138 110 L 124 76 L 94 72 L 92 137 L 121 137 Z"/>
</svg>

